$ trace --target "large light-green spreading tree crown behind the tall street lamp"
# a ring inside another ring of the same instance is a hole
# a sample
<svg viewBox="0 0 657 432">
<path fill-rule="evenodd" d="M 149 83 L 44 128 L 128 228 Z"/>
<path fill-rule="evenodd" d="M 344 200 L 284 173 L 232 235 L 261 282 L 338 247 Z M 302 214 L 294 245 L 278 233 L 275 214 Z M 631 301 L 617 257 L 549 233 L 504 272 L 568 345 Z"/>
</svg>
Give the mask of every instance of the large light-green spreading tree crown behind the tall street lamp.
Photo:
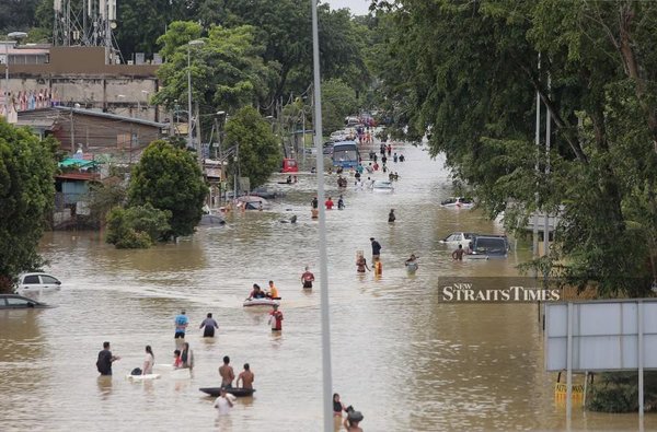
<svg viewBox="0 0 657 432">
<path fill-rule="evenodd" d="M 153 103 L 170 109 L 174 101 L 187 100 L 187 50 L 191 55 L 193 98 L 201 112 L 237 109 L 266 98 L 276 80 L 274 63 L 265 66 L 254 28 L 211 26 L 203 45 L 187 43 L 200 36 L 200 26 L 174 22 L 158 40 L 166 63 L 158 69 L 163 86 Z"/>
</svg>

